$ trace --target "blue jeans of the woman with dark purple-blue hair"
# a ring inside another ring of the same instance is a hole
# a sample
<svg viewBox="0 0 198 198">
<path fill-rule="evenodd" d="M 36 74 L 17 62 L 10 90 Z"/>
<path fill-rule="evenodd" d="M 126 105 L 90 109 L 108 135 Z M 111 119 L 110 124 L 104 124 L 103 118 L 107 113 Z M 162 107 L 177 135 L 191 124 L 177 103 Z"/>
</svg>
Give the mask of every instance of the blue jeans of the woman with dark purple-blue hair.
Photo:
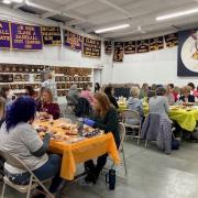
<svg viewBox="0 0 198 198">
<path fill-rule="evenodd" d="M 48 156 L 48 161 L 41 166 L 37 169 L 34 169 L 33 173 L 40 180 L 45 180 L 48 178 L 52 178 L 52 184 L 50 187 L 51 193 L 55 193 L 62 183 L 62 178 L 59 177 L 61 172 L 61 156 L 56 154 L 51 154 Z M 10 174 L 8 170 L 6 170 L 6 175 L 9 177 L 9 179 L 18 185 L 25 185 L 30 182 L 30 174 L 29 173 L 22 173 L 22 174 Z"/>
</svg>

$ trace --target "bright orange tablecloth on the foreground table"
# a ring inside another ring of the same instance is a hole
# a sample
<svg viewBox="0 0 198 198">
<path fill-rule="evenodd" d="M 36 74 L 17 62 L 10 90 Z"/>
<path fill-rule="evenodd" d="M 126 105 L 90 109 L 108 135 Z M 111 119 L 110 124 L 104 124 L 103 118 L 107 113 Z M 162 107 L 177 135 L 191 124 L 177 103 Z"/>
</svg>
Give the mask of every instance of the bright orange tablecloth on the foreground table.
<svg viewBox="0 0 198 198">
<path fill-rule="evenodd" d="M 40 122 L 40 125 L 47 125 L 51 128 L 46 122 Z M 61 129 L 52 127 L 52 130 L 59 131 Z M 116 164 L 120 163 L 112 133 L 98 135 L 76 143 L 51 141 L 50 151 L 63 155 L 61 177 L 67 180 L 74 179 L 76 164 L 97 158 L 106 153 L 111 156 Z"/>
</svg>

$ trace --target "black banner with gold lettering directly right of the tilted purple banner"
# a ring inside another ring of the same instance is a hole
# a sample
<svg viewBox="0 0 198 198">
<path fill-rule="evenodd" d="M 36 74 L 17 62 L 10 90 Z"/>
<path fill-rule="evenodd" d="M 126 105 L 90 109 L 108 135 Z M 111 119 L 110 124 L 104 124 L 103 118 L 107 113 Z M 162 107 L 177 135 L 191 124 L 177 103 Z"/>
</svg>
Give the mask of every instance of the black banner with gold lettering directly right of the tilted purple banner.
<svg viewBox="0 0 198 198">
<path fill-rule="evenodd" d="M 82 55 L 90 57 L 101 56 L 101 41 L 84 37 Z"/>
</svg>

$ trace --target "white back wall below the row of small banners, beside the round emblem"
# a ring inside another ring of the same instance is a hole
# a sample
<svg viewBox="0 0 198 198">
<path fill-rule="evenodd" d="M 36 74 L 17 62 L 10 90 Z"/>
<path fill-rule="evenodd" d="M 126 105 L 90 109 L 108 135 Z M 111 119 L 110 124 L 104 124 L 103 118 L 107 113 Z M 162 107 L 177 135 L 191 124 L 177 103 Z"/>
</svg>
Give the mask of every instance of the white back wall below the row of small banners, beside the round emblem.
<svg viewBox="0 0 198 198">
<path fill-rule="evenodd" d="M 113 82 L 174 82 L 198 85 L 198 77 L 177 77 L 177 47 L 156 52 L 124 55 L 123 63 L 113 63 Z"/>
</svg>

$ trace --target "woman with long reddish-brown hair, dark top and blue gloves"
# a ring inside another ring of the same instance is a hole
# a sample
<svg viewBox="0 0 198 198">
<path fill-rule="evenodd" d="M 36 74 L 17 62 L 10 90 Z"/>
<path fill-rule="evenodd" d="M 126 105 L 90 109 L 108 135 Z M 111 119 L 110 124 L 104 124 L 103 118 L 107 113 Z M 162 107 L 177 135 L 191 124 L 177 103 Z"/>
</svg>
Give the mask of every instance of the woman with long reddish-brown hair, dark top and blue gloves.
<svg viewBox="0 0 198 198">
<path fill-rule="evenodd" d="M 118 112 L 116 108 L 110 103 L 108 97 L 103 92 L 97 92 L 94 95 L 94 116 L 92 120 L 84 119 L 84 123 L 92 128 L 99 128 L 105 130 L 106 133 L 111 132 L 114 136 L 117 147 L 120 145 L 120 135 L 119 135 L 119 120 Z M 103 154 L 98 157 L 97 164 L 94 164 L 94 161 L 87 161 L 85 167 L 88 170 L 88 176 L 86 177 L 87 183 L 96 183 L 100 172 L 106 165 L 108 154 Z"/>
</svg>

